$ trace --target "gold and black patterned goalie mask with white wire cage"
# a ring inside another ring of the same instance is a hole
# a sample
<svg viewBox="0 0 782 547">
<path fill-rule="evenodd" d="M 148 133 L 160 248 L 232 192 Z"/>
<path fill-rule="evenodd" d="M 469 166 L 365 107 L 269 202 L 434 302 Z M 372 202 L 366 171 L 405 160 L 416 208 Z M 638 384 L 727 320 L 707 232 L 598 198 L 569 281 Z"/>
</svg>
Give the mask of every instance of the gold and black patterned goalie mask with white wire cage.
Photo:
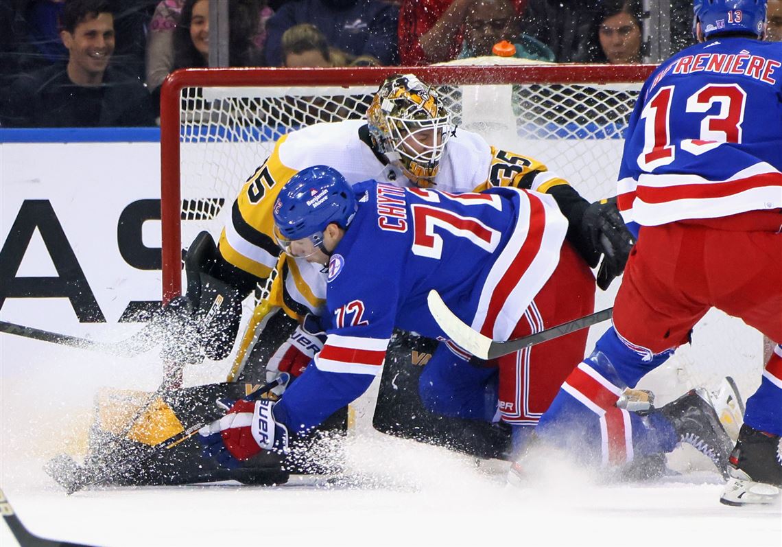
<svg viewBox="0 0 782 547">
<path fill-rule="evenodd" d="M 434 184 L 445 145 L 454 132 L 436 90 L 413 74 L 395 74 L 382 83 L 367 111 L 375 149 L 422 188 Z"/>
</svg>

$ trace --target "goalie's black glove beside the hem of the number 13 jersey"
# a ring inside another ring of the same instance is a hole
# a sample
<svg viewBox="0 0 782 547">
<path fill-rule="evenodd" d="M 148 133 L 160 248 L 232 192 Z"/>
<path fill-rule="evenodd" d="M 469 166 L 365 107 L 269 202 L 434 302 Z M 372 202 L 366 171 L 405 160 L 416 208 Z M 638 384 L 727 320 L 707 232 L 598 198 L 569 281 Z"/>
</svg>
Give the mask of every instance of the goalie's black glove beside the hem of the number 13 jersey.
<svg viewBox="0 0 782 547">
<path fill-rule="evenodd" d="M 614 278 L 624 272 L 635 238 L 616 208 L 616 198 L 590 203 L 584 211 L 581 226 L 593 247 L 587 263 L 594 268 L 603 256 L 597 271 L 597 286 L 606 290 Z"/>
</svg>

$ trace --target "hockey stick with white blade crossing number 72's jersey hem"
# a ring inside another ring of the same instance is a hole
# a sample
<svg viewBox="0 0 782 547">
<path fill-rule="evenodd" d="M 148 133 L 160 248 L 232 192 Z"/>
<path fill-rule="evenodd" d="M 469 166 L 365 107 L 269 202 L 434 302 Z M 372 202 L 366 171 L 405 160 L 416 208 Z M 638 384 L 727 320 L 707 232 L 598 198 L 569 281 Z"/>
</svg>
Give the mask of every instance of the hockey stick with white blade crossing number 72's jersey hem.
<svg viewBox="0 0 782 547">
<path fill-rule="evenodd" d="M 554 338 L 565 336 L 565 334 L 573 333 L 576 330 L 586 329 L 588 326 L 610 319 L 614 311 L 614 308 L 607 308 L 592 315 L 586 315 L 573 321 L 553 326 L 551 329 L 541 330 L 540 333 L 522 336 L 507 342 L 500 342 L 492 340 L 488 336 L 483 336 L 454 315 L 454 312 L 450 311 L 450 308 L 443 302 L 443 298 L 440 297 L 436 290 L 429 291 L 429 297 L 426 298 L 426 301 L 429 304 L 429 311 L 432 312 L 432 317 L 435 318 L 439 327 L 443 329 L 448 337 L 454 340 L 454 343 L 475 355 L 475 357 L 482 359 L 501 357 L 523 350 L 525 347 L 533 346 L 534 344 L 554 340 Z"/>
</svg>

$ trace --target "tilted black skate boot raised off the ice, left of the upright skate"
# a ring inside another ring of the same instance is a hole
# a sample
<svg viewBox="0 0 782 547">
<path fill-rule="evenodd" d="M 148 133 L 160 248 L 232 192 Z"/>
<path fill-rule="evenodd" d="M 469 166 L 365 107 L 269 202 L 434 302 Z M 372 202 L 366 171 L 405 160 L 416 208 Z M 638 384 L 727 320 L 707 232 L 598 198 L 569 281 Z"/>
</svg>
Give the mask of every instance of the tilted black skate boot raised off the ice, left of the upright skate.
<svg viewBox="0 0 782 547">
<path fill-rule="evenodd" d="M 652 412 L 660 412 L 669 420 L 680 443 L 692 444 L 714 462 L 725 480 L 730 478 L 728 456 L 733 442 L 719 421 L 708 391 L 697 387 Z"/>
</svg>

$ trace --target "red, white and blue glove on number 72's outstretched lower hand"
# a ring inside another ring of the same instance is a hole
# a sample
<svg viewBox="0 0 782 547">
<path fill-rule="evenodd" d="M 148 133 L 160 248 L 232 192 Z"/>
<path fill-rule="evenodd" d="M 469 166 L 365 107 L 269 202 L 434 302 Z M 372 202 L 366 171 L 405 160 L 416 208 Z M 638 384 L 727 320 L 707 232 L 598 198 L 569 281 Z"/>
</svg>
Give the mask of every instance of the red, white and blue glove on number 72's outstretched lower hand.
<svg viewBox="0 0 782 547">
<path fill-rule="evenodd" d="M 260 452 L 288 452 L 288 429 L 274 420 L 274 401 L 221 401 L 231 405 L 221 419 L 203 426 L 203 455 L 234 469 Z"/>
</svg>

